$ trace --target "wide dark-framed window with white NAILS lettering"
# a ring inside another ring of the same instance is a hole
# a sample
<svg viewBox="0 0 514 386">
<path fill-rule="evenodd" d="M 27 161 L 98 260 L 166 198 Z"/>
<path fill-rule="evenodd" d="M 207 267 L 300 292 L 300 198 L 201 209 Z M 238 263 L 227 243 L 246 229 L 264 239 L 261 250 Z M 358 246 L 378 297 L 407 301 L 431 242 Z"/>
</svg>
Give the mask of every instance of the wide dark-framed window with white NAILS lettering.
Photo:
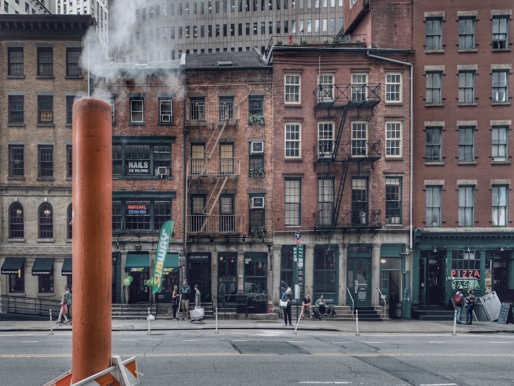
<svg viewBox="0 0 514 386">
<path fill-rule="evenodd" d="M 132 142 L 132 143 L 131 143 Z M 113 142 L 113 174 L 117 176 L 170 176 L 171 145 L 141 143 L 137 139 L 127 144 Z"/>
</svg>

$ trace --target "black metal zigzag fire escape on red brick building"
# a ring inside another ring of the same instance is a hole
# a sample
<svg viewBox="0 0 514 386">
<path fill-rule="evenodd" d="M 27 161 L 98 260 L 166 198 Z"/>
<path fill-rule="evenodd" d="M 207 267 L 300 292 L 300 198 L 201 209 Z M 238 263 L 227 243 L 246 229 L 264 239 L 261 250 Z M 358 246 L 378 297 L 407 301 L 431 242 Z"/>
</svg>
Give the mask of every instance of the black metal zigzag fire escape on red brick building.
<svg viewBox="0 0 514 386">
<path fill-rule="evenodd" d="M 315 230 L 320 231 L 323 243 L 329 245 L 336 229 L 377 230 L 381 227 L 380 209 L 368 207 L 347 210 L 341 207 L 346 176 L 350 165 L 358 170 L 363 165 L 374 167 L 381 157 L 380 139 L 371 140 L 367 135 L 351 135 L 350 141 L 343 141 L 343 129 L 348 111 L 360 116 L 366 111 L 373 115 L 380 103 L 380 83 L 367 84 L 319 84 L 314 91 L 315 117 L 334 117 L 339 123 L 335 135 L 326 135 L 314 146 L 314 170 L 318 175 L 318 212 L 314 213 Z M 352 109 L 352 110 L 351 110 Z M 366 130 L 367 132 L 368 130 Z M 334 181 L 323 185 L 324 181 Z M 348 200 L 350 202 L 350 200 Z"/>
</svg>

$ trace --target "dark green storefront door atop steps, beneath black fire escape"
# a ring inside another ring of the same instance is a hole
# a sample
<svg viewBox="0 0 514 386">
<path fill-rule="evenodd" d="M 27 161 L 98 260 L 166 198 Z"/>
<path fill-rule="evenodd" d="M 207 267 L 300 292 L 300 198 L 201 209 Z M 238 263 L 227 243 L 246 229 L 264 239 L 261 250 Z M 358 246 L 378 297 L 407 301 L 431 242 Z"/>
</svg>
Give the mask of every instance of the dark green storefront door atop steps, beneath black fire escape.
<svg viewBox="0 0 514 386">
<path fill-rule="evenodd" d="M 371 258 L 348 258 L 346 283 L 355 307 L 371 306 Z M 352 300 L 347 299 L 346 305 L 351 306 Z"/>
</svg>

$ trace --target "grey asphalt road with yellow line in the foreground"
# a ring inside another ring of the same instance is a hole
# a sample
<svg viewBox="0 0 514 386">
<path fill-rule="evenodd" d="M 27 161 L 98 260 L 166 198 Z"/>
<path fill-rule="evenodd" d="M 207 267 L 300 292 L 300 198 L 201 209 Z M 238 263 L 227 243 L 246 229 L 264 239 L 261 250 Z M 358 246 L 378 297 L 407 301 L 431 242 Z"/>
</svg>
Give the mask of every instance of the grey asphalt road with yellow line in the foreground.
<svg viewBox="0 0 514 386">
<path fill-rule="evenodd" d="M 71 331 L 2 332 L 0 383 L 43 385 L 71 369 Z M 512 334 L 224 330 L 113 332 L 141 385 L 507 386 Z M 99 348 L 102 349 L 102 348 Z"/>
</svg>

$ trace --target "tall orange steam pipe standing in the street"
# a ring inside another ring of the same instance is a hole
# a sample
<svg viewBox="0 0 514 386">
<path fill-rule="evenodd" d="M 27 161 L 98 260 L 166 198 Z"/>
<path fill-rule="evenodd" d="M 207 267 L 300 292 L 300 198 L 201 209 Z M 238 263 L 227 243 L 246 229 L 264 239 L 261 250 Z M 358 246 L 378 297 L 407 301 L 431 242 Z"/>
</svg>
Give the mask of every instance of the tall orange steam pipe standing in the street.
<svg viewBox="0 0 514 386">
<path fill-rule="evenodd" d="M 111 106 L 73 104 L 72 383 L 111 366 Z"/>
</svg>

